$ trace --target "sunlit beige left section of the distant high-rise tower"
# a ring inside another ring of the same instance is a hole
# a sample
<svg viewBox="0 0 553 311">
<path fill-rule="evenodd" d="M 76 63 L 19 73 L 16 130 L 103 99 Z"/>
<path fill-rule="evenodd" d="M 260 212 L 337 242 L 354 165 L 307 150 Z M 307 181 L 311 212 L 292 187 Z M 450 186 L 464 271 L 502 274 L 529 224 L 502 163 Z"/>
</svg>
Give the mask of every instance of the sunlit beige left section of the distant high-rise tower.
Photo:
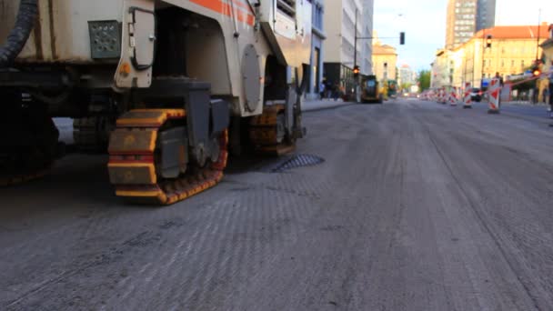
<svg viewBox="0 0 553 311">
<path fill-rule="evenodd" d="M 477 7 L 478 0 L 447 1 L 447 49 L 462 45 L 477 31 Z"/>
</svg>

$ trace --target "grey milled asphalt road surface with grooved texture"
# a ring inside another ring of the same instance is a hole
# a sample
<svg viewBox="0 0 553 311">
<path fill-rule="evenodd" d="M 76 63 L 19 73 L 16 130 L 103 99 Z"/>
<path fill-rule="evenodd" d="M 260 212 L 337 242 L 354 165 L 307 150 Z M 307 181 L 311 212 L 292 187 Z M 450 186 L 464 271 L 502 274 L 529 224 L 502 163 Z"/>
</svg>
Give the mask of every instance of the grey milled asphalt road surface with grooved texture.
<svg viewBox="0 0 553 311">
<path fill-rule="evenodd" d="M 126 206 L 105 156 L 0 190 L 2 310 L 552 310 L 553 127 L 417 100 L 307 113 L 298 155 Z M 285 159 L 286 160 L 286 159 Z"/>
</svg>

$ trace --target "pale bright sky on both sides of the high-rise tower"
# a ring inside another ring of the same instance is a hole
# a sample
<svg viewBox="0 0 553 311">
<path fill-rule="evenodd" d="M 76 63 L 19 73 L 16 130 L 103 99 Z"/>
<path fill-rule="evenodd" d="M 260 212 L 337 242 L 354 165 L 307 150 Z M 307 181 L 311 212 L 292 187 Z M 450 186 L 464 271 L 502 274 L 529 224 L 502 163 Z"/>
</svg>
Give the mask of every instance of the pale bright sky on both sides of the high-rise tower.
<svg viewBox="0 0 553 311">
<path fill-rule="evenodd" d="M 538 18 L 553 24 L 552 0 L 496 1 L 496 25 L 538 25 Z M 375 0 L 373 30 L 379 37 L 405 32 L 406 45 L 396 38 L 381 41 L 397 48 L 398 66 L 430 69 L 437 49 L 446 43 L 446 12 L 447 0 Z"/>
</svg>

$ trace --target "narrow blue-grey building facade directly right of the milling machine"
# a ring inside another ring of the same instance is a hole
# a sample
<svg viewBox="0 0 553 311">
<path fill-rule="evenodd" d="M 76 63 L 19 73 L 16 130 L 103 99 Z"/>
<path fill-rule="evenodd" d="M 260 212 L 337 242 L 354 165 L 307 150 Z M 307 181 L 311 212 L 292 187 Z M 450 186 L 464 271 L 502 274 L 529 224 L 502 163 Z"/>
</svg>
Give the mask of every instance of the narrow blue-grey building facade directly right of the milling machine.
<svg viewBox="0 0 553 311">
<path fill-rule="evenodd" d="M 324 0 L 312 0 L 312 29 L 311 29 L 311 62 L 309 71 L 309 85 L 306 98 L 317 99 L 323 82 L 323 43 L 327 39 L 324 31 Z"/>
</svg>

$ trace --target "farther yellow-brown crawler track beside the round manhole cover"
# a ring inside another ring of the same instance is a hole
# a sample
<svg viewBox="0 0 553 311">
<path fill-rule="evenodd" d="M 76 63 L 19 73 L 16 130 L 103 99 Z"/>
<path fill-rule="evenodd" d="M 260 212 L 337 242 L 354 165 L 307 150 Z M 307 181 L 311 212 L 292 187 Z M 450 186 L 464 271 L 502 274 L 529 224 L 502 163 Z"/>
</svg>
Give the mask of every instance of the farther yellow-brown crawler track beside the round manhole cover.
<svg viewBox="0 0 553 311">
<path fill-rule="evenodd" d="M 284 114 L 284 105 L 268 105 L 263 114 L 252 118 L 249 136 L 258 153 L 281 156 L 296 149 L 294 141 L 286 135 Z"/>
</svg>

